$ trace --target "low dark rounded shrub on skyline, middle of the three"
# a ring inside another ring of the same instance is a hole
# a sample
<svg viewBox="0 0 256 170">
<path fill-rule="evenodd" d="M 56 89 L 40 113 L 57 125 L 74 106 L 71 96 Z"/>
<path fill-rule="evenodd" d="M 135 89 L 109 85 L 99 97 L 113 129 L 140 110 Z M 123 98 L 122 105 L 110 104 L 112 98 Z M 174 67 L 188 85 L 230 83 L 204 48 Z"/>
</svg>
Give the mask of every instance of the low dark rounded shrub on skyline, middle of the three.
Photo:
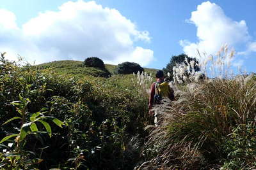
<svg viewBox="0 0 256 170">
<path fill-rule="evenodd" d="M 144 69 L 135 62 L 123 62 L 116 67 L 116 73 L 118 74 L 132 74 L 138 73 L 138 71 L 142 72 Z"/>
</svg>

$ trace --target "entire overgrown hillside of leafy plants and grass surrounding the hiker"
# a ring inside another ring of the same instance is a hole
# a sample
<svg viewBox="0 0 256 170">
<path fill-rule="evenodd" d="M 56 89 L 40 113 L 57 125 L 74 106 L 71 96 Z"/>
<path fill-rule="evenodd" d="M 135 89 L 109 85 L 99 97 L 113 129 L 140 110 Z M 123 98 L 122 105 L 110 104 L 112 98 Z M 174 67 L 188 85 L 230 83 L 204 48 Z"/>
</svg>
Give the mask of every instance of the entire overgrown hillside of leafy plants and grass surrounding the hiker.
<svg viewBox="0 0 256 170">
<path fill-rule="evenodd" d="M 176 84 L 154 127 L 150 77 L 95 77 L 70 60 L 36 67 L 0 58 L 0 169 L 256 167 L 253 74 Z"/>
</svg>

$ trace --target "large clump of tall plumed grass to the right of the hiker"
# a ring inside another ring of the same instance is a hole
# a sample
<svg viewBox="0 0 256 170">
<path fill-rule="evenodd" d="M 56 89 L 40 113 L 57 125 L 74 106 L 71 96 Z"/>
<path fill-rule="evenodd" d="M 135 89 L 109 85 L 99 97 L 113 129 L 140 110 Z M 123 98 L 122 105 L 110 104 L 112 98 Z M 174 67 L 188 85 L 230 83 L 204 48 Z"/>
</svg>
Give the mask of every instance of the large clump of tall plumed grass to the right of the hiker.
<svg viewBox="0 0 256 170">
<path fill-rule="evenodd" d="M 163 121 L 150 132 L 143 152 L 147 161 L 140 168 L 255 167 L 256 146 L 244 142 L 242 147 L 239 141 L 256 137 L 256 78 L 253 74 L 232 76 L 234 51 L 228 53 L 227 46 L 211 57 L 211 74 L 205 68 L 208 61 L 199 62 L 201 73 L 208 77 L 202 81 L 196 81 L 193 63 L 175 68 L 176 83 L 182 83 L 175 92 L 177 101 L 163 110 Z M 237 127 L 247 130 L 237 132 Z M 241 148 L 250 149 L 241 152 Z"/>
</svg>

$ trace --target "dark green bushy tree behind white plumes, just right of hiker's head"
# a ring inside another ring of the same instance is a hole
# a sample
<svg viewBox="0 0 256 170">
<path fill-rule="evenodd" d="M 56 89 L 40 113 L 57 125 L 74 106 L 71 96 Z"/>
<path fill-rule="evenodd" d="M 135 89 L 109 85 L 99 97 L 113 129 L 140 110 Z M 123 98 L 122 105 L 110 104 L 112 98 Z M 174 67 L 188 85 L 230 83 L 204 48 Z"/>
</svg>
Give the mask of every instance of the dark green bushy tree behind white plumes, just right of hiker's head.
<svg viewBox="0 0 256 170">
<path fill-rule="evenodd" d="M 195 63 L 198 64 L 198 61 L 195 58 L 188 57 L 188 55 L 186 55 L 185 53 L 182 53 L 180 55 L 173 55 L 170 59 L 170 62 L 168 62 L 166 67 L 163 68 L 164 74 L 167 75 L 167 73 L 169 72 L 171 74 L 171 79 L 172 79 L 173 67 L 176 66 L 177 64 L 182 64 L 182 63 L 186 64 L 186 62 L 184 62 L 186 58 L 188 58 L 188 62 L 190 62 L 191 60 L 195 60 L 196 61 Z M 195 64 L 195 71 L 200 71 L 199 66 L 196 64 Z"/>
</svg>

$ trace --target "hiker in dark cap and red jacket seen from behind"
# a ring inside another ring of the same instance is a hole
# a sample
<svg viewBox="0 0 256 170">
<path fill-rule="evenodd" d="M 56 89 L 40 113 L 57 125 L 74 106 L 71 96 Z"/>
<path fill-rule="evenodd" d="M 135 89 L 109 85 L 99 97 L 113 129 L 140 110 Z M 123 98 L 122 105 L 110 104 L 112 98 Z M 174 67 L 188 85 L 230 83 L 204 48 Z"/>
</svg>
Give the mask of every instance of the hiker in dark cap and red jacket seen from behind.
<svg viewBox="0 0 256 170">
<path fill-rule="evenodd" d="M 156 82 L 152 83 L 149 97 L 148 109 L 151 110 L 153 104 L 159 104 L 163 97 L 168 97 L 171 101 L 174 100 L 174 92 L 167 81 L 164 81 L 164 73 L 159 70 L 156 73 Z M 149 112 L 152 114 L 152 111 Z"/>
</svg>

